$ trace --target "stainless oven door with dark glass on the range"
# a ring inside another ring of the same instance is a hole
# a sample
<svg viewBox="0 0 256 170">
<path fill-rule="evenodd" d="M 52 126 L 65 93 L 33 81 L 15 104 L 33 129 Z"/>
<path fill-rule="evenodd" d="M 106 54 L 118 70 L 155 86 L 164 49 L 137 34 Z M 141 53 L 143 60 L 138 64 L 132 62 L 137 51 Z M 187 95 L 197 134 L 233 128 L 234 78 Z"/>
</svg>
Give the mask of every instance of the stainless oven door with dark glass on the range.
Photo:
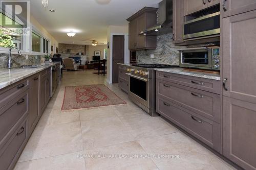
<svg viewBox="0 0 256 170">
<path fill-rule="evenodd" d="M 151 79 L 135 76 L 132 74 L 128 75 L 130 76 L 129 95 L 145 107 L 150 108 L 148 92 L 150 89 L 149 84 Z"/>
</svg>

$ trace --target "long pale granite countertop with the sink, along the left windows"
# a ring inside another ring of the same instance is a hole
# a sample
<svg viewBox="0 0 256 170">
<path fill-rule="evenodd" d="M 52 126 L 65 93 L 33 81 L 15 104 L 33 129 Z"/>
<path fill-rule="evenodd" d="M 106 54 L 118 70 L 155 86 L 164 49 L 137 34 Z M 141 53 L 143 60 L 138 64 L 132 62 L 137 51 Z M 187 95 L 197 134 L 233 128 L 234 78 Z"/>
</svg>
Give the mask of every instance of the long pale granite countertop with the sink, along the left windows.
<svg viewBox="0 0 256 170">
<path fill-rule="evenodd" d="M 51 62 L 48 65 L 42 64 L 37 68 L 12 68 L 0 69 L 0 90 L 16 83 L 20 80 L 26 79 L 37 72 L 47 69 L 60 62 Z"/>
</svg>

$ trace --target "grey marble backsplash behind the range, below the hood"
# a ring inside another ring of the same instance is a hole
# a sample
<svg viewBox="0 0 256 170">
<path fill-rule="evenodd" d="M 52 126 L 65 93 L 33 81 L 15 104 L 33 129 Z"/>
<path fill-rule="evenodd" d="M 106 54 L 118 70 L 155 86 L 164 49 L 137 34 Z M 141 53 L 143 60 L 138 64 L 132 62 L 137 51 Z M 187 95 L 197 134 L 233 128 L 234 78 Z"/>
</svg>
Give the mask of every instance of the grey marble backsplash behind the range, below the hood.
<svg viewBox="0 0 256 170">
<path fill-rule="evenodd" d="M 156 50 L 140 50 L 137 51 L 138 64 L 173 64 L 179 65 L 180 48 L 185 46 L 175 46 L 172 40 L 172 33 L 164 34 L 157 37 Z M 154 54 L 154 59 L 150 55 Z"/>
</svg>

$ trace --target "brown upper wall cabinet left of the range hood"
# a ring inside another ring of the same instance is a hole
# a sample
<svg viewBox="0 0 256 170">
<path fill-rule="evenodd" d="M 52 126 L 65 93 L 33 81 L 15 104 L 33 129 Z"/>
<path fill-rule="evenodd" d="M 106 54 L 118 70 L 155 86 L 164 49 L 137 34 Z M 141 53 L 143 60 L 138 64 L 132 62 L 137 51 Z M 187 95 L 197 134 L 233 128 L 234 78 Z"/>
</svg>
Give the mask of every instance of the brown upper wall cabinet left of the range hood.
<svg viewBox="0 0 256 170">
<path fill-rule="evenodd" d="M 129 49 L 145 50 L 155 49 L 157 44 L 156 36 L 139 35 L 140 32 L 156 25 L 157 8 L 145 7 L 127 19 L 129 21 Z"/>
</svg>

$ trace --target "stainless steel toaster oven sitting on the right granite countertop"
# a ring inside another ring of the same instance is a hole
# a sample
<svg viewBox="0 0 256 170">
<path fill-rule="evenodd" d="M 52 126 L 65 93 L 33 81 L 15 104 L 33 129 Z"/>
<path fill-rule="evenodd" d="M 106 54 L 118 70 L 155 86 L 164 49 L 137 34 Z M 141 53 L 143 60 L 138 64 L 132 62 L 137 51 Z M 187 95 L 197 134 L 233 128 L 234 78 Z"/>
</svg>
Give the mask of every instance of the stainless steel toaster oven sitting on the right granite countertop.
<svg viewBox="0 0 256 170">
<path fill-rule="evenodd" d="M 180 49 L 180 67 L 220 70 L 220 47 Z"/>
</svg>

